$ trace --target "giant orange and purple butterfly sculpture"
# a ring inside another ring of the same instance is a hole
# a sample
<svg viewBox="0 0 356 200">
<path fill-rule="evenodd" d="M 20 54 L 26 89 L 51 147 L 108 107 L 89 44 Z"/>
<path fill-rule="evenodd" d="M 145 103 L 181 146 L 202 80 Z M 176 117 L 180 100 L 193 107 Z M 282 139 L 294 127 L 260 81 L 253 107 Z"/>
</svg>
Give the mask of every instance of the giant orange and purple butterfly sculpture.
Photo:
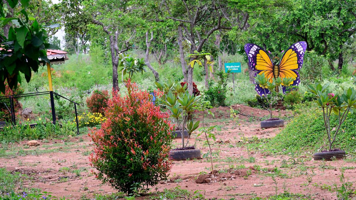
<svg viewBox="0 0 356 200">
<path fill-rule="evenodd" d="M 274 64 L 266 51 L 261 47 L 251 43 L 245 44 L 248 66 L 253 71 L 256 71 L 255 77 L 256 74 L 265 74 L 265 77 L 269 79 L 271 83 L 273 78 L 293 78 L 290 85 L 298 85 L 300 83 L 299 73 L 296 70 L 302 68 L 306 49 L 306 42 L 297 42 L 284 52 L 278 64 Z M 283 87 L 283 92 L 285 92 L 285 88 L 286 87 Z M 278 90 L 279 88 L 276 86 L 276 91 L 278 92 Z M 259 85 L 256 85 L 256 91 L 259 95 L 269 93 L 268 90 L 261 88 Z"/>
</svg>

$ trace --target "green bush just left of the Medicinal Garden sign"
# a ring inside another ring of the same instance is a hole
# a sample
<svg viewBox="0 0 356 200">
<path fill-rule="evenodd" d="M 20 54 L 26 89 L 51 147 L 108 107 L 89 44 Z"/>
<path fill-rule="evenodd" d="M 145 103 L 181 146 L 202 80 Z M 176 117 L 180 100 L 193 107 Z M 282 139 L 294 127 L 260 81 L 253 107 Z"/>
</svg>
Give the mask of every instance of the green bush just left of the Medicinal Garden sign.
<svg viewBox="0 0 356 200">
<path fill-rule="evenodd" d="M 227 78 L 228 73 L 223 70 L 215 73 L 219 77 L 217 84 L 214 84 L 213 80 L 209 81 L 209 89 L 205 91 L 205 100 L 210 101 L 210 104 L 214 107 L 226 106 L 226 93 L 227 93 Z"/>
</svg>

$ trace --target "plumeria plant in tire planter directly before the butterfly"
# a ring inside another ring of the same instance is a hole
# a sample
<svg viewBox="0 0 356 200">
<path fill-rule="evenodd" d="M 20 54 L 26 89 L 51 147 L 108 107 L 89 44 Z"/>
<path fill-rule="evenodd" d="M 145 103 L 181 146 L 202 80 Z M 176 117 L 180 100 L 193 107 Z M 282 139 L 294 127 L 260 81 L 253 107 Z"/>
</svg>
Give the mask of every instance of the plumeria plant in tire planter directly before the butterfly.
<svg viewBox="0 0 356 200">
<path fill-rule="evenodd" d="M 263 88 L 264 94 L 262 96 L 266 98 L 269 104 L 269 117 L 272 119 L 272 105 L 277 102 L 279 92 L 293 83 L 293 78 L 266 78 L 265 73 L 263 73 L 256 75 L 254 83 Z M 268 93 L 270 93 L 269 96 Z"/>
</svg>

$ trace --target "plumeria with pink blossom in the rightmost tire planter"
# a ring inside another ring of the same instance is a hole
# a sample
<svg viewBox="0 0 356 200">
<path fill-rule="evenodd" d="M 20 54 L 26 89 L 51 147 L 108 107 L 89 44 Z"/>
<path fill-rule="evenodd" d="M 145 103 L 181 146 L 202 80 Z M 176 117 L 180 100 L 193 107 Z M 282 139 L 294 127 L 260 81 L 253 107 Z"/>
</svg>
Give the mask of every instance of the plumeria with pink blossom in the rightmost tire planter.
<svg viewBox="0 0 356 200">
<path fill-rule="evenodd" d="M 331 151 L 336 135 L 344 123 L 347 114 L 353 113 L 356 108 L 356 91 L 354 88 L 349 88 L 343 91 L 342 94 L 334 94 L 327 89 L 327 86 L 321 86 L 320 83 L 308 85 L 310 93 L 316 96 L 315 103 L 323 110 L 324 125 L 326 134 L 328 135 L 329 151 Z M 330 127 L 330 116 L 334 112 L 337 116 L 336 127 Z"/>
</svg>

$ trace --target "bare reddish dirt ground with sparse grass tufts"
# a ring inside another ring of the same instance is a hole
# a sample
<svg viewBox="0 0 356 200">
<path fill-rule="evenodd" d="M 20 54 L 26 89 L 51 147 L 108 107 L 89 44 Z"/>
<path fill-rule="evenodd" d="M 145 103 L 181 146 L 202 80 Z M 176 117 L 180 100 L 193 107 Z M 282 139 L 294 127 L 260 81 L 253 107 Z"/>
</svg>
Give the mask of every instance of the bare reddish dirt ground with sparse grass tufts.
<svg viewBox="0 0 356 200">
<path fill-rule="evenodd" d="M 258 119 L 268 116 L 268 111 L 244 105 L 234 105 L 233 108 L 239 112 L 241 131 L 245 137 L 258 140 L 274 137 L 281 131 L 281 128 L 261 130 Z M 314 161 L 311 159 L 312 152 L 301 152 L 296 159 L 299 158 L 304 164 L 299 162 L 293 165 L 290 155 L 268 155 L 258 149 L 247 151 L 239 127 L 230 119 L 230 108 L 219 107 L 212 111 L 215 118 L 207 117 L 205 125 L 218 127 L 215 136 L 221 143 L 211 142 L 213 152 L 218 153 L 213 164 L 219 173 L 204 177 L 205 182 L 209 183 L 198 184 L 195 179 L 199 174 L 210 172 L 210 160 L 174 161 L 171 179 L 159 183 L 152 188 L 153 191 L 180 186 L 182 189 L 198 191 L 207 199 L 251 199 L 274 195 L 277 186 L 278 194 L 288 191 L 307 195 L 311 199 L 336 199 L 333 184 L 340 186 L 341 168 L 346 169 L 344 175 L 347 181 L 356 180 L 356 163 L 348 160 Z M 273 115 L 289 116 L 284 111 L 273 112 Z M 201 113 L 195 114 L 200 120 L 201 116 Z M 190 144 L 195 143 L 202 154 L 209 149 L 204 143 L 204 137 L 193 135 L 190 139 Z M 178 144 L 180 139 L 175 139 L 175 142 Z M 10 144 L 6 151 L 8 156 L 0 158 L 0 168 L 30 177 L 24 183 L 26 187 L 41 188 L 42 191 L 66 199 L 80 199 L 84 196 L 90 199 L 95 194 L 115 192 L 110 186 L 102 185 L 90 173 L 88 156 L 92 146 L 88 136 L 73 137 L 66 141 L 41 141 L 37 147 L 27 147 L 26 143 L 21 141 Z M 287 162 L 287 168 L 281 168 L 283 162 Z M 277 174 L 275 168 L 278 169 L 278 176 L 273 181 L 271 175 Z M 73 170 L 77 170 L 77 173 Z M 311 175 L 312 170 L 314 175 Z"/>
</svg>

